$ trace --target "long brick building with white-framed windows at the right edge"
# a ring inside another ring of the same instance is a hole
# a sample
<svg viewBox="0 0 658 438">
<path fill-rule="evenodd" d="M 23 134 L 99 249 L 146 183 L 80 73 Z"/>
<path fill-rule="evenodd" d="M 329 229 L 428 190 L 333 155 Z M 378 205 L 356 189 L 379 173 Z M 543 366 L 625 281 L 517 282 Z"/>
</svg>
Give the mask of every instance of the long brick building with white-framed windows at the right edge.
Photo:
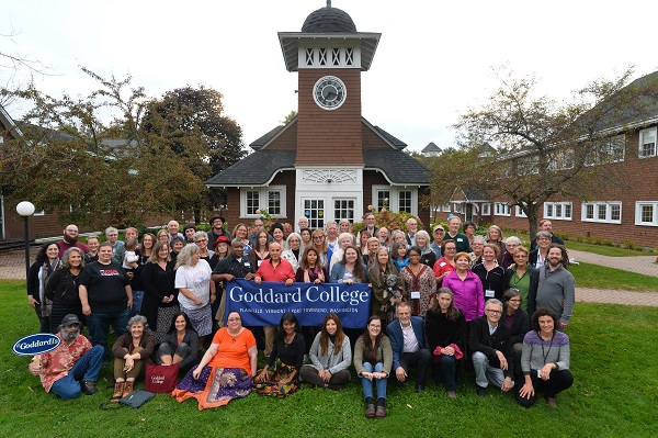
<svg viewBox="0 0 658 438">
<path fill-rule="evenodd" d="M 644 90 L 643 96 L 627 103 L 635 105 L 633 111 L 622 109 L 622 116 L 601 126 L 604 138 L 588 158 L 589 166 L 610 167 L 606 170 L 612 170 L 619 179 L 609 181 L 606 194 L 599 199 L 583 202 L 553 196 L 545 202 L 538 217 L 551 220 L 557 235 L 658 246 L 658 99 L 655 98 L 658 96 L 658 71 L 636 79 L 627 87 Z M 511 169 L 522 171 L 520 161 L 523 159 L 527 157 L 512 158 Z M 481 224 L 527 228 L 527 220 L 518 205 L 473 189 L 456 190 L 451 204 L 442 210 L 443 216 L 450 211 Z"/>
</svg>

